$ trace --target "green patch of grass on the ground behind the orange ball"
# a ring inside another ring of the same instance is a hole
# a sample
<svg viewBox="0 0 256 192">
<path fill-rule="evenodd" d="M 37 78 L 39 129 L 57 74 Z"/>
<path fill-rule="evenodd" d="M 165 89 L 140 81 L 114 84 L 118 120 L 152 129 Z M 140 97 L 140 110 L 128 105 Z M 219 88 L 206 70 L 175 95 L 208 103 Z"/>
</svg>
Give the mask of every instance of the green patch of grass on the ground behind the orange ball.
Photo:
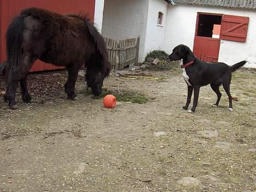
<svg viewBox="0 0 256 192">
<path fill-rule="evenodd" d="M 86 95 L 91 94 L 91 91 L 88 91 Z M 98 96 L 92 96 L 94 99 L 101 99 L 105 97 L 107 94 L 112 94 L 117 98 L 118 101 L 124 101 L 124 102 L 131 102 L 131 103 L 138 103 L 138 104 L 144 104 L 147 103 L 149 98 L 139 92 L 134 91 L 121 91 L 120 93 L 117 91 L 107 90 L 102 91 L 102 93 Z"/>
</svg>

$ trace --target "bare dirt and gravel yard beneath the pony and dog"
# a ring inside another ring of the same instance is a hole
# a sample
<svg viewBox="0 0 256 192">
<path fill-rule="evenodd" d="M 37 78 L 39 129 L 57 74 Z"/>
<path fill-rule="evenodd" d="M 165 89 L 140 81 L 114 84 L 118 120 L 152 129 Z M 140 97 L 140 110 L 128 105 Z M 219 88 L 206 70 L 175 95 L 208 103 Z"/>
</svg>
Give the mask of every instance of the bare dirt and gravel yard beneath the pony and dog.
<svg viewBox="0 0 256 192">
<path fill-rule="evenodd" d="M 85 96 L 82 77 L 80 100 L 71 101 L 65 71 L 30 75 L 31 104 L 20 93 L 19 110 L 0 100 L 0 191 L 256 191 L 255 71 L 233 74 L 233 112 L 223 88 L 220 106 L 212 107 L 216 94 L 206 86 L 194 114 L 181 110 L 187 85 L 180 69 L 143 75 L 159 79 L 105 81 L 108 89 L 149 98 L 114 109 Z M 196 181 L 180 184 L 184 177 Z"/>
</svg>

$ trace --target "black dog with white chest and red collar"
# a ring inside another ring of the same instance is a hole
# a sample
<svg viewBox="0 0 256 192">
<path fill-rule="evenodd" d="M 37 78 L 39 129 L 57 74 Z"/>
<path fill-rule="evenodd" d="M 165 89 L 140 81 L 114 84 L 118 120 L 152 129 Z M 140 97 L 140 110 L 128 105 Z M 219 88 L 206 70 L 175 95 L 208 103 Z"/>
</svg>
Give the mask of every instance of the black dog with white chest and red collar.
<svg viewBox="0 0 256 192">
<path fill-rule="evenodd" d="M 208 84 L 211 85 L 213 91 L 217 94 L 218 97 L 216 104 L 213 106 L 217 107 L 219 104 L 220 97 L 222 97 L 222 94 L 219 92 L 219 86 L 223 85 L 223 88 L 229 97 L 229 111 L 233 110 L 232 98 L 230 95 L 231 73 L 242 67 L 244 64 L 246 64 L 247 61 L 241 61 L 232 65 L 231 67 L 225 63 L 202 62 L 197 59 L 189 47 L 185 45 L 176 46 L 168 58 L 170 61 L 181 60 L 183 77 L 188 85 L 187 103 L 182 107 L 184 110 L 188 109 L 194 88 L 193 107 L 188 112 L 195 112 L 197 100 L 199 97 L 199 89 L 201 86 Z"/>
</svg>

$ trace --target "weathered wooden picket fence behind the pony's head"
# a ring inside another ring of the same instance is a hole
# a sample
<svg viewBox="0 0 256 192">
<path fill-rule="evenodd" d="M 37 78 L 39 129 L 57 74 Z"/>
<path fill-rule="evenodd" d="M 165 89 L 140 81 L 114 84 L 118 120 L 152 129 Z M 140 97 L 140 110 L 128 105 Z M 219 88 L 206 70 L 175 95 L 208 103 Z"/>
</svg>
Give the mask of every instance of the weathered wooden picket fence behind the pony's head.
<svg viewBox="0 0 256 192">
<path fill-rule="evenodd" d="M 104 38 L 111 69 L 123 69 L 138 62 L 139 37 L 124 40 Z"/>
</svg>

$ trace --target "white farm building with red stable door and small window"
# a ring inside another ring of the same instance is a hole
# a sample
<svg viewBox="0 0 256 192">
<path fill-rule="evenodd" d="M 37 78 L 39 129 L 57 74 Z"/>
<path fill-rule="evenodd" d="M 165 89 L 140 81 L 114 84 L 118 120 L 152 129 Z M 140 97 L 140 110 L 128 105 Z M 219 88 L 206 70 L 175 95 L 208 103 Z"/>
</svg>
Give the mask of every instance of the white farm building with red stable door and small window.
<svg viewBox="0 0 256 192">
<path fill-rule="evenodd" d="M 204 61 L 256 68 L 256 1 L 96 0 L 104 37 L 141 37 L 139 61 L 149 51 L 185 44 Z M 214 37 L 214 38 L 213 38 Z"/>
</svg>

